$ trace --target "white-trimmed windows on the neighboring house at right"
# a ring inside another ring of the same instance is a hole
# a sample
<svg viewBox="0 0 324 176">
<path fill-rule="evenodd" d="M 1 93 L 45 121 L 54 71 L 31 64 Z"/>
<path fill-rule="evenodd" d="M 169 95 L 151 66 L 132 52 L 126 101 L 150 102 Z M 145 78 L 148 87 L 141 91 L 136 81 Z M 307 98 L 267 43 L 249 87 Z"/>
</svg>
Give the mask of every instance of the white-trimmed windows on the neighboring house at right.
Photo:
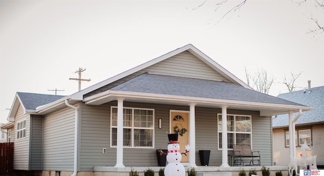
<svg viewBox="0 0 324 176">
<path fill-rule="evenodd" d="M 286 147 L 289 147 L 289 131 L 285 131 L 286 133 Z M 295 143 L 296 146 L 301 146 L 304 142 L 308 145 L 311 145 L 311 129 L 296 129 L 295 131 Z"/>
</svg>

